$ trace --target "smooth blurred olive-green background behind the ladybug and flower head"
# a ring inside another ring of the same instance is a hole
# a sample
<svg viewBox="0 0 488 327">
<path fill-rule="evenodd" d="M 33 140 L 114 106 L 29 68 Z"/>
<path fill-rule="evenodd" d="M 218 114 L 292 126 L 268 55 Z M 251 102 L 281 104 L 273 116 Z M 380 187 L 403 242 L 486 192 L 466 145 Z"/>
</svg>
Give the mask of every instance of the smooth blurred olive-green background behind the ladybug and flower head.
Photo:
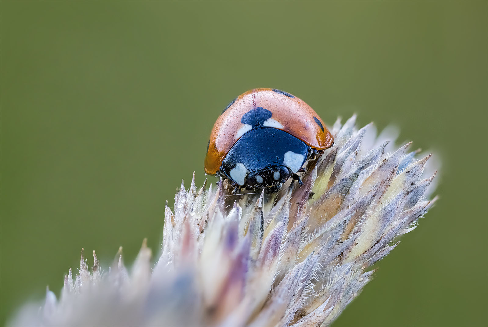
<svg viewBox="0 0 488 327">
<path fill-rule="evenodd" d="M 142 239 L 253 87 L 442 163 L 437 206 L 335 326 L 486 326 L 487 1 L 1 1 L 0 324 Z"/>
</svg>

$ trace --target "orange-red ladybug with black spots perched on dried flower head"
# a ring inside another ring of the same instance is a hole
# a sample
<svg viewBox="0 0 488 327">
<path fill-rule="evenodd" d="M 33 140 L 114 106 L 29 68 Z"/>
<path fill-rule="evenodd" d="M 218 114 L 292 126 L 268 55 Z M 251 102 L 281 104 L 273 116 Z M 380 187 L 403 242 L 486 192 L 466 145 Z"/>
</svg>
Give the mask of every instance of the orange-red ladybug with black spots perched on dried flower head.
<svg viewBox="0 0 488 327">
<path fill-rule="evenodd" d="M 205 173 L 241 189 L 276 193 L 309 159 L 334 143 L 319 115 L 303 100 L 277 89 L 256 88 L 230 102 L 214 124 Z"/>
</svg>

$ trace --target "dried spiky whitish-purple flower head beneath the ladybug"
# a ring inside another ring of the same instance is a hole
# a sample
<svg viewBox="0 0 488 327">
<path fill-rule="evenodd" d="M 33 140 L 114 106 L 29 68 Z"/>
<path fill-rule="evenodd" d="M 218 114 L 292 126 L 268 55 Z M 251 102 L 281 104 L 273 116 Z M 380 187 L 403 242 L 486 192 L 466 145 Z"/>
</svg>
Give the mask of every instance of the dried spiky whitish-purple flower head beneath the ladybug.
<svg viewBox="0 0 488 327">
<path fill-rule="evenodd" d="M 225 183 L 182 183 L 165 210 L 156 266 L 145 242 L 129 273 L 122 254 L 101 271 L 81 255 L 61 299 L 47 291 L 14 325 L 326 326 L 371 279 L 369 267 L 415 229 L 434 201 L 424 193 L 430 156 L 410 143 L 391 154 L 355 117 L 333 126 L 335 144 L 307 166 L 304 186 L 232 195 Z"/>
</svg>

